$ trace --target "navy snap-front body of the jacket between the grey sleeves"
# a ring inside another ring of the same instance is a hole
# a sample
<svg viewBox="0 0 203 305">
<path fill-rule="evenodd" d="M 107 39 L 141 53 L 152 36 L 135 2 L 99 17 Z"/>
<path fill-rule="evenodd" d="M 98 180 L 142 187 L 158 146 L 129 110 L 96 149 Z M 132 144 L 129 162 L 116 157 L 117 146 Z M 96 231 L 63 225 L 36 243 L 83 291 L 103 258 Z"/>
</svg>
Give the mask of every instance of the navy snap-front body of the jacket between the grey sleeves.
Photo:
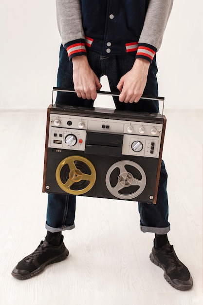
<svg viewBox="0 0 203 305">
<path fill-rule="evenodd" d="M 81 0 L 86 46 L 117 54 L 136 51 L 149 0 Z"/>
</svg>

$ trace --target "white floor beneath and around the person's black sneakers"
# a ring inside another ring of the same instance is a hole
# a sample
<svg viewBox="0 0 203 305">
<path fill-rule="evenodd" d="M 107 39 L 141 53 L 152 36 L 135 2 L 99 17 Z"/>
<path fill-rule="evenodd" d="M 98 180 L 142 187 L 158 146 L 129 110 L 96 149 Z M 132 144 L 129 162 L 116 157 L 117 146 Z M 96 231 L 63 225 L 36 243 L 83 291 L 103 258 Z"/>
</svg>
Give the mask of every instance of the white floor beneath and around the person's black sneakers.
<svg viewBox="0 0 203 305">
<path fill-rule="evenodd" d="M 174 289 L 150 262 L 154 236 L 140 231 L 137 203 L 86 197 L 77 200 L 76 228 L 64 232 L 70 257 L 30 280 L 13 278 L 12 269 L 46 234 L 46 110 L 0 112 L 0 304 L 203 304 L 203 111 L 165 114 L 168 237 L 193 288 Z"/>
</svg>

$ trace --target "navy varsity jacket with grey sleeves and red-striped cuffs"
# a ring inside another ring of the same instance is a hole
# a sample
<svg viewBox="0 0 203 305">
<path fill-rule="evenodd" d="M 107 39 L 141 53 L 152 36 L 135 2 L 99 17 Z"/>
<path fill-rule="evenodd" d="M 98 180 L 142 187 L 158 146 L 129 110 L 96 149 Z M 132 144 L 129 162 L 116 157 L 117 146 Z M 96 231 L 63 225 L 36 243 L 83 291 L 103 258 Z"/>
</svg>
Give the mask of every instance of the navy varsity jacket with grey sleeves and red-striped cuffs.
<svg viewBox="0 0 203 305">
<path fill-rule="evenodd" d="M 152 61 L 173 0 L 56 0 L 59 32 L 69 58 L 86 49 L 130 53 Z"/>
</svg>

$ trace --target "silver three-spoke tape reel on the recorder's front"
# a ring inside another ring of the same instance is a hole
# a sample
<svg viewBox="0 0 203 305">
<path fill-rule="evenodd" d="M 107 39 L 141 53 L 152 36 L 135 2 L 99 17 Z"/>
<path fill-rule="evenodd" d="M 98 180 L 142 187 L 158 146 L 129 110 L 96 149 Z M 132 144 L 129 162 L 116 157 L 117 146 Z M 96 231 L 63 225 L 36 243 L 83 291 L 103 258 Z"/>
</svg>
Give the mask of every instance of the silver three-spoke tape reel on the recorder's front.
<svg viewBox="0 0 203 305">
<path fill-rule="evenodd" d="M 141 179 L 134 177 L 133 173 L 128 172 L 127 169 L 125 168 L 126 165 L 129 165 L 132 168 L 135 168 L 136 170 L 138 170 L 139 174 L 141 175 Z M 113 187 L 111 185 L 110 177 L 111 177 L 111 173 L 116 169 L 118 169 L 120 173 L 118 174 L 118 177 L 117 177 L 117 183 Z M 114 163 L 109 168 L 109 170 L 106 174 L 107 189 L 116 198 L 124 199 L 124 200 L 133 199 L 133 198 L 137 197 L 138 195 L 140 195 L 145 189 L 146 181 L 147 181 L 146 174 L 145 174 L 144 170 L 142 169 L 142 167 L 139 164 L 137 164 L 133 161 L 129 161 L 129 160 L 118 161 L 118 162 Z M 138 190 L 136 190 L 132 193 L 128 193 L 128 194 L 121 193 L 121 191 L 124 188 L 129 188 L 130 186 L 136 186 L 136 187 L 138 187 Z"/>
</svg>

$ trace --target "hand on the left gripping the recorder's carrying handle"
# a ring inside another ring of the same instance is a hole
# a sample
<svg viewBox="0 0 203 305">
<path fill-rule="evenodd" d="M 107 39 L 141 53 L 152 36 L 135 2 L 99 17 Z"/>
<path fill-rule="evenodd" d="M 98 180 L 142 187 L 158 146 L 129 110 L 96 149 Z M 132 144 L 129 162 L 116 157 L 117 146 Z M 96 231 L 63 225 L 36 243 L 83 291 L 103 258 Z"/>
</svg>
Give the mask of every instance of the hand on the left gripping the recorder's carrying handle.
<svg viewBox="0 0 203 305">
<path fill-rule="evenodd" d="M 89 66 L 85 55 L 72 58 L 73 61 L 73 80 L 74 90 L 78 97 L 95 99 L 96 91 L 100 90 L 102 85 Z"/>
</svg>

